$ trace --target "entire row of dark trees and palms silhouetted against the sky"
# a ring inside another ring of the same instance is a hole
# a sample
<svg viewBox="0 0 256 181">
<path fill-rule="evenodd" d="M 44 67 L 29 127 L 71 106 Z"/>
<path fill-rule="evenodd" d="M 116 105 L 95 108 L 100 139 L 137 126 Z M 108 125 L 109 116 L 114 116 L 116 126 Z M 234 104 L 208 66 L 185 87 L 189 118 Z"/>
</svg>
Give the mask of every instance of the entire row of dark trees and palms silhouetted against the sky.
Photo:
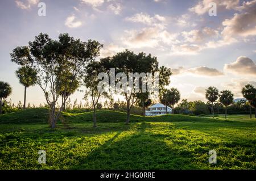
<svg viewBox="0 0 256 181">
<path fill-rule="evenodd" d="M 129 124 L 131 108 L 137 104 L 145 112 L 153 100 L 149 99 L 149 92 L 135 92 L 134 90 L 121 93 L 117 90 L 99 92 L 98 84 L 101 80 L 98 79 L 98 74 L 104 72 L 110 76 L 110 69 L 115 68 L 115 74 L 159 73 L 159 100 L 166 105 L 166 111 L 167 106 L 171 106 L 174 110 L 175 104 L 180 100 L 180 92 L 174 87 L 165 88 L 170 84 L 172 75 L 170 68 L 159 66 L 157 58 L 151 54 L 144 52 L 136 54 L 127 49 L 112 57 L 100 58 L 96 61 L 102 47 L 103 45 L 98 41 L 84 42 L 69 36 L 68 33 L 61 33 L 57 40 L 51 39 L 46 33 L 40 33 L 34 41 L 29 41 L 27 46 L 13 49 L 13 52 L 10 53 L 11 61 L 20 66 L 15 73 L 19 82 L 24 86 L 23 109 L 26 108 L 28 87 L 38 85 L 44 93 L 50 110 L 49 123 L 51 128 L 55 128 L 61 112 L 65 111 L 68 98 L 81 86 L 85 86 L 85 98 L 92 100 L 94 127 L 96 127 L 96 109 L 99 100 L 101 98 L 110 99 L 113 94 L 121 94 L 125 98 L 126 124 Z M 115 80 L 115 83 L 117 82 L 118 79 Z M 6 99 L 11 91 L 9 83 L 0 82 L 0 113 L 2 113 L 2 100 Z M 242 94 L 248 100 L 250 107 L 255 108 L 255 88 L 246 85 L 242 89 Z M 205 96 L 212 104 L 213 117 L 213 104 L 217 99 L 225 106 L 226 117 L 227 107 L 233 102 L 232 92 L 223 90 L 219 94 L 216 87 L 209 87 Z M 56 106 L 58 100 L 61 100 L 59 109 Z M 189 110 L 193 110 L 193 104 L 185 101 L 182 101 L 179 106 L 187 106 Z"/>
</svg>

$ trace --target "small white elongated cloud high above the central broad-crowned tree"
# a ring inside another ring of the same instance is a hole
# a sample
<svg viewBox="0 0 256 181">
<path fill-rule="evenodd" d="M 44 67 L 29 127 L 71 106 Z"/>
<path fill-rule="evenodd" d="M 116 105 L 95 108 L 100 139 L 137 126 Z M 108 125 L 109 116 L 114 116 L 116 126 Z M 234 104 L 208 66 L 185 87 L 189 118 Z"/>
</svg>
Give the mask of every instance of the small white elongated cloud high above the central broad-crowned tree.
<svg viewBox="0 0 256 181">
<path fill-rule="evenodd" d="M 147 24 L 147 25 L 152 25 L 152 24 L 156 24 L 156 23 L 161 23 L 164 22 L 166 20 L 166 18 L 164 18 L 164 16 L 160 16 L 158 14 L 154 15 L 154 16 L 150 16 L 146 13 L 137 13 L 131 17 L 127 17 L 125 18 L 126 21 L 129 22 L 134 22 L 134 23 L 143 23 L 143 24 Z"/>
</svg>

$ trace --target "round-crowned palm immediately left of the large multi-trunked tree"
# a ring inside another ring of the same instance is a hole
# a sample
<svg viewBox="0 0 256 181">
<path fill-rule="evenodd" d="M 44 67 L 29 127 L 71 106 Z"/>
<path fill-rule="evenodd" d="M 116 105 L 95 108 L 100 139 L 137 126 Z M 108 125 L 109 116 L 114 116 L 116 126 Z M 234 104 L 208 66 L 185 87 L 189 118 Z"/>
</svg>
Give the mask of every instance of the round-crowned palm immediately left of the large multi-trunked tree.
<svg viewBox="0 0 256 181">
<path fill-rule="evenodd" d="M 36 84 L 37 72 L 35 69 L 30 68 L 29 66 L 22 66 L 16 70 L 16 76 L 19 79 L 19 83 L 24 86 L 24 104 L 23 110 L 26 109 L 26 96 L 27 88 L 34 86 Z"/>
</svg>

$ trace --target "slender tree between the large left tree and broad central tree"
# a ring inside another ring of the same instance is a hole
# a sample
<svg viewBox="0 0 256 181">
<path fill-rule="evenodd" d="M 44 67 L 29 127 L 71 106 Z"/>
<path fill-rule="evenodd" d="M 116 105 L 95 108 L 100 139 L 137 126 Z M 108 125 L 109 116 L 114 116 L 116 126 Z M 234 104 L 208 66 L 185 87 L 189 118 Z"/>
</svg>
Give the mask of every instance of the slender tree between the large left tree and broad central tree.
<svg viewBox="0 0 256 181">
<path fill-rule="evenodd" d="M 100 79 L 98 79 L 98 74 L 106 71 L 108 70 L 106 70 L 106 67 L 104 66 L 102 61 L 90 62 L 90 64 L 88 64 L 88 66 L 85 69 L 85 75 L 84 75 L 84 85 L 86 87 L 85 98 L 90 96 L 90 98 L 92 99 L 94 128 L 97 127 L 96 108 L 98 107 L 98 100 L 102 96 L 104 97 L 108 96 L 108 92 L 109 92 L 109 90 L 106 90 L 104 92 L 101 92 L 98 90 L 98 85 L 100 82 Z"/>
</svg>

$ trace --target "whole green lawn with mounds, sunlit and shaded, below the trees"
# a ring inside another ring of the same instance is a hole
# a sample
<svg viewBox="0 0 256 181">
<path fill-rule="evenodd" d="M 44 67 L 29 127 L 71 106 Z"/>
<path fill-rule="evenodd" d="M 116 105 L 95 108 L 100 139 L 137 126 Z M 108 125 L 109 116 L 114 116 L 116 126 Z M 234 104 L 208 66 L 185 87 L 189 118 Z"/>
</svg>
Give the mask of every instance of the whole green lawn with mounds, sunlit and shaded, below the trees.
<svg viewBox="0 0 256 181">
<path fill-rule="evenodd" d="M 51 130 L 44 109 L 1 115 L 0 169 L 256 169 L 256 119 L 247 115 L 133 115 L 129 125 L 125 113 L 97 116 L 92 128 L 92 113 L 65 113 Z M 46 164 L 38 163 L 41 149 Z"/>
</svg>

